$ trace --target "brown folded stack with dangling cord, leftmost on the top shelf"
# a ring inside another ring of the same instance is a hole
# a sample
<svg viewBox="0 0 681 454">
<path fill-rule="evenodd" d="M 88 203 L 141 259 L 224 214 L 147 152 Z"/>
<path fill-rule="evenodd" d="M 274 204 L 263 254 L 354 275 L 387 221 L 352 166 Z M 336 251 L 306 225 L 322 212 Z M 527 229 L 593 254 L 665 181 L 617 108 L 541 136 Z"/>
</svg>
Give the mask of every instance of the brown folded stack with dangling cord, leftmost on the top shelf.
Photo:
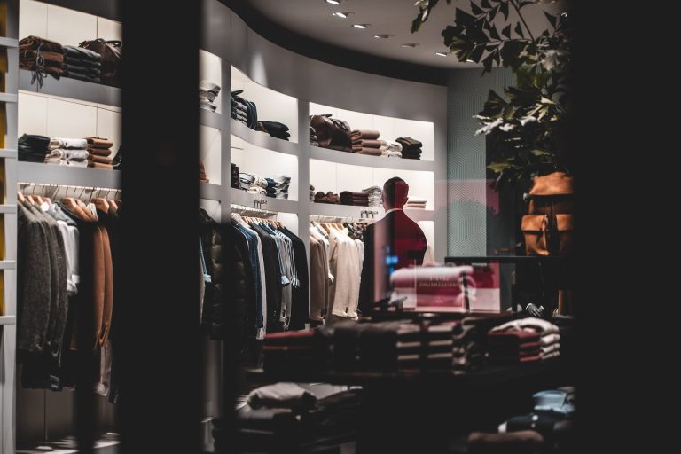
<svg viewBox="0 0 681 454">
<path fill-rule="evenodd" d="M 44 74 L 59 79 L 64 71 L 64 49 L 59 43 L 27 36 L 19 42 L 19 67 L 33 71 L 39 84 Z"/>
</svg>

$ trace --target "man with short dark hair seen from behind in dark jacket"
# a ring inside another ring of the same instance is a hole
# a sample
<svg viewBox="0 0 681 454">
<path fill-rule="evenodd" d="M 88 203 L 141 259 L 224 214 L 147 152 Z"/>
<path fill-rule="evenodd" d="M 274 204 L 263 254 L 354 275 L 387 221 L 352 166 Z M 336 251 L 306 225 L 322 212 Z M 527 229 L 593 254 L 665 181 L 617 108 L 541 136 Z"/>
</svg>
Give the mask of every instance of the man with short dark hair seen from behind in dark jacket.
<svg viewBox="0 0 681 454">
<path fill-rule="evenodd" d="M 390 296 L 393 271 L 423 263 L 426 236 L 404 214 L 409 185 L 397 176 L 383 184 L 381 200 L 386 215 L 364 232 L 364 262 L 359 289 L 359 309 L 367 313 L 374 301 Z"/>
</svg>

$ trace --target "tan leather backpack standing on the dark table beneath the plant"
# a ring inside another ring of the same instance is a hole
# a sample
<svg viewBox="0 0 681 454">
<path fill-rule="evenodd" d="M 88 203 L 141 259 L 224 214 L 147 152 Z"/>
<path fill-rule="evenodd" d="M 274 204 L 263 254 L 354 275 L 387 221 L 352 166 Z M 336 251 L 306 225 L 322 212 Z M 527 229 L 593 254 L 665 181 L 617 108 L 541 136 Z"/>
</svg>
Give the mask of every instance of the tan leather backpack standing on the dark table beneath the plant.
<svg viewBox="0 0 681 454">
<path fill-rule="evenodd" d="M 521 231 L 528 255 L 565 255 L 572 250 L 573 178 L 563 172 L 537 176 Z"/>
</svg>

